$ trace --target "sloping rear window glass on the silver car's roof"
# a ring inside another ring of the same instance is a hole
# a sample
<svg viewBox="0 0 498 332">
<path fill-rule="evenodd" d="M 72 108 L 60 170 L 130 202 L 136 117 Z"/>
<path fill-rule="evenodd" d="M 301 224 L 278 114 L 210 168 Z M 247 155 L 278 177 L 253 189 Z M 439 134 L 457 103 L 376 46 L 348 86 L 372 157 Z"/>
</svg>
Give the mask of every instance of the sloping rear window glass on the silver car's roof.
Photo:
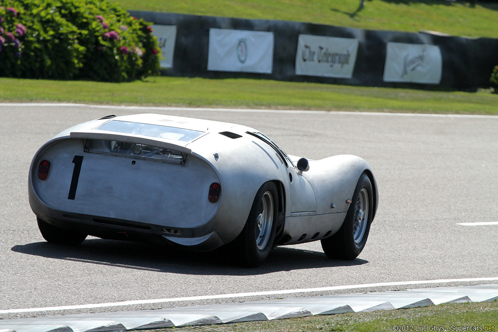
<svg viewBox="0 0 498 332">
<path fill-rule="evenodd" d="M 150 125 L 146 123 L 112 120 L 95 128 L 106 132 L 142 135 L 173 141 L 190 142 L 204 132 L 168 126 Z"/>
</svg>

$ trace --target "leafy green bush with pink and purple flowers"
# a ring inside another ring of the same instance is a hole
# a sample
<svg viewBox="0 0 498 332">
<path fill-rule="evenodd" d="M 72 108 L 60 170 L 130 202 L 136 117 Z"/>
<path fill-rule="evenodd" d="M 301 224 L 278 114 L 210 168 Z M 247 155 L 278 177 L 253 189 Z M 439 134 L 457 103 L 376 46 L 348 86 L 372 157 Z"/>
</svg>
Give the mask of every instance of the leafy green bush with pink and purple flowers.
<svg viewBox="0 0 498 332">
<path fill-rule="evenodd" d="M 1 0 L 0 76 L 123 82 L 154 75 L 150 23 L 108 0 Z"/>
</svg>

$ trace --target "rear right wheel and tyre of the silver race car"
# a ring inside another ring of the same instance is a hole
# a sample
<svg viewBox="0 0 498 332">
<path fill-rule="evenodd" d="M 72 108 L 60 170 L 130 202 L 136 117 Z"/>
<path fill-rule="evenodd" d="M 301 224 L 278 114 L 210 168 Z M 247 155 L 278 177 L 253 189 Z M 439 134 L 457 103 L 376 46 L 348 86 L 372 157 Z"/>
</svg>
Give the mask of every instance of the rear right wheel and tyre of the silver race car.
<svg viewBox="0 0 498 332">
<path fill-rule="evenodd" d="M 256 267 L 268 257 L 275 239 L 277 212 L 277 187 L 266 182 L 257 191 L 246 225 L 233 242 L 237 263 Z"/>
</svg>

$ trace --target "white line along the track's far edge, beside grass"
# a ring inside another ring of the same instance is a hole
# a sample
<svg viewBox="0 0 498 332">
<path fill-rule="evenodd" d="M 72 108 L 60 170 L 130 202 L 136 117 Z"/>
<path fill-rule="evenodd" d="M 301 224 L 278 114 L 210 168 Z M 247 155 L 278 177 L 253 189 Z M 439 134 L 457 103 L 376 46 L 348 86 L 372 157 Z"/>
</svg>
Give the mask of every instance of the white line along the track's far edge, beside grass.
<svg viewBox="0 0 498 332">
<path fill-rule="evenodd" d="M 117 110 L 144 110 L 144 111 L 199 111 L 199 112 L 240 112 L 240 113 L 290 113 L 290 114 L 331 114 L 331 115 L 368 115 L 390 117 L 425 117 L 425 118 L 469 118 L 469 119 L 497 119 L 496 115 L 473 114 L 420 114 L 420 113 L 381 113 L 381 112 L 344 112 L 344 111 L 305 111 L 305 110 L 265 110 L 265 109 L 236 109 L 236 108 L 192 108 L 192 107 L 145 107 L 145 106 L 116 106 L 116 105 L 87 105 L 71 103 L 0 103 L 0 107 L 89 107 Z"/>
</svg>

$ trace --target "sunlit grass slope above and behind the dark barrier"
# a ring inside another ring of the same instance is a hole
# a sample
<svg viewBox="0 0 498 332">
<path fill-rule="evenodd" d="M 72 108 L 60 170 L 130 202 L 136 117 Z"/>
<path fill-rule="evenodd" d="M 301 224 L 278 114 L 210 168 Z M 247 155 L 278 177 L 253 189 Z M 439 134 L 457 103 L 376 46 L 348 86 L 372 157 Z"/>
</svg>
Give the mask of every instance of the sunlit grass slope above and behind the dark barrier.
<svg viewBox="0 0 498 332">
<path fill-rule="evenodd" d="M 128 10 L 279 19 L 373 30 L 434 30 L 457 36 L 498 37 L 498 3 L 443 0 L 113 0 Z"/>
</svg>

